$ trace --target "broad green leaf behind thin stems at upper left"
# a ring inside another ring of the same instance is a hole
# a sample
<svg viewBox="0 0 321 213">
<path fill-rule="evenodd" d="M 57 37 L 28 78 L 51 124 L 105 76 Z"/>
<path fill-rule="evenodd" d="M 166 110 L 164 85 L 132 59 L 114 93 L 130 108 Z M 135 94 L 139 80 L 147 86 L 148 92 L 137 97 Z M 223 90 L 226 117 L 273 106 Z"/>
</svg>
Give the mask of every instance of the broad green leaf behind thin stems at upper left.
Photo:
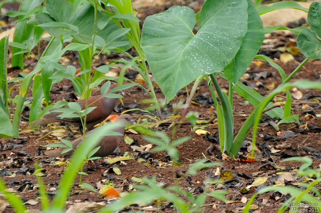
<svg viewBox="0 0 321 213">
<path fill-rule="evenodd" d="M 44 24 L 51 21 L 64 22 L 60 23 L 60 25 L 71 24 L 70 26 L 76 27 L 72 28 L 73 30 L 78 29 L 77 32 L 72 33 L 72 36 L 77 41 L 85 44 L 92 43 L 92 35 L 94 33 L 95 26 L 95 11 L 90 3 L 84 2 L 83 4 L 77 5 L 77 8 L 74 8 L 74 4 L 65 0 L 47 0 L 46 9 L 49 15 L 42 13 L 37 14 L 35 17 L 39 24 Z M 108 36 L 120 28 L 114 21 L 110 21 L 110 18 L 107 15 L 100 12 L 97 13 L 97 22 L 107 22 L 105 27 L 103 27 L 101 30 L 96 26 L 97 35 L 103 38 L 107 44 Z M 49 34 L 56 34 L 56 30 L 58 28 L 44 27 L 44 29 L 48 31 Z M 117 44 L 118 47 L 123 50 L 127 50 L 132 46 L 125 35 L 121 35 L 112 41 L 113 44 Z"/>
</svg>

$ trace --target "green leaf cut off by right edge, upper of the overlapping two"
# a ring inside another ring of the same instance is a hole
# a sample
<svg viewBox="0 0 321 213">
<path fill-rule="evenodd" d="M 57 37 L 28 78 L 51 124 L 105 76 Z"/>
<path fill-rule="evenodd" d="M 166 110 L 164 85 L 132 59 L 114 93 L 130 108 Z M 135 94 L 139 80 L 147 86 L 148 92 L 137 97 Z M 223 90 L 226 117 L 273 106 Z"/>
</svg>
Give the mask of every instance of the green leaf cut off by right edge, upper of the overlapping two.
<svg viewBox="0 0 321 213">
<path fill-rule="evenodd" d="M 313 2 L 308 13 L 308 23 L 315 34 L 321 38 L 321 2 Z"/>
</svg>

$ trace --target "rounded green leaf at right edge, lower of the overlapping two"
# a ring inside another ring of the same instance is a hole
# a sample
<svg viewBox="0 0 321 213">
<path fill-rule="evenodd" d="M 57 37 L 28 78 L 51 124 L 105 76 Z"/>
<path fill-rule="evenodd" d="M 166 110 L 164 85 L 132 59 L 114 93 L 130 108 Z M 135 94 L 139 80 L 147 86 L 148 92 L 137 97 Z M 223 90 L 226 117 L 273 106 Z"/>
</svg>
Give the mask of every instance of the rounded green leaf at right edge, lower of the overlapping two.
<svg viewBox="0 0 321 213">
<path fill-rule="evenodd" d="M 305 29 L 300 32 L 297 45 L 301 53 L 309 60 L 321 58 L 321 43 L 311 30 Z"/>
</svg>

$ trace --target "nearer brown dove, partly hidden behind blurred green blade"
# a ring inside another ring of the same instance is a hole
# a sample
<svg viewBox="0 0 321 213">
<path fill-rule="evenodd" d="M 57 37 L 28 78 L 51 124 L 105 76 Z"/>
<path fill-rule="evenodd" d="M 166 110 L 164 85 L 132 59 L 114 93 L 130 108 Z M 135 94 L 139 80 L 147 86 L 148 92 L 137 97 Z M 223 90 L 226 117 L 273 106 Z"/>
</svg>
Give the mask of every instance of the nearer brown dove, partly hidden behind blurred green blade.
<svg viewBox="0 0 321 213">
<path fill-rule="evenodd" d="M 125 125 L 126 123 L 130 122 L 130 123 L 133 123 L 135 124 L 135 122 L 133 121 L 132 117 L 128 114 L 123 114 L 123 115 L 120 115 L 116 121 L 120 121 L 120 122 L 123 122 L 123 125 L 121 127 L 118 127 L 118 128 L 115 128 L 114 132 L 118 132 L 122 135 L 107 135 L 107 136 L 104 136 L 101 141 L 96 145 L 95 148 L 99 147 L 100 148 L 98 149 L 98 151 L 93 154 L 93 156 L 91 157 L 106 157 L 108 155 L 110 155 L 118 146 L 118 144 L 122 141 L 123 139 L 123 135 L 124 135 L 124 132 L 125 132 Z M 87 132 L 85 134 L 85 138 L 91 134 L 92 132 L 94 132 L 95 130 L 91 130 L 89 132 Z M 65 147 L 60 147 L 60 148 L 57 148 L 57 149 L 53 149 L 53 150 L 50 150 L 50 151 L 47 151 L 45 152 L 45 155 L 47 155 L 48 157 L 65 157 L 65 158 L 70 158 L 71 155 L 74 153 L 74 150 L 77 148 L 77 146 L 82 142 L 83 140 L 83 136 L 77 138 L 76 140 L 74 140 L 72 142 L 72 145 L 73 145 L 73 149 L 71 149 L 70 151 L 68 152 L 65 152 L 63 154 L 61 154 L 61 152 L 64 150 L 64 149 L 67 149 Z M 94 161 L 96 166 L 98 166 L 98 164 L 96 163 L 96 161 Z"/>
</svg>

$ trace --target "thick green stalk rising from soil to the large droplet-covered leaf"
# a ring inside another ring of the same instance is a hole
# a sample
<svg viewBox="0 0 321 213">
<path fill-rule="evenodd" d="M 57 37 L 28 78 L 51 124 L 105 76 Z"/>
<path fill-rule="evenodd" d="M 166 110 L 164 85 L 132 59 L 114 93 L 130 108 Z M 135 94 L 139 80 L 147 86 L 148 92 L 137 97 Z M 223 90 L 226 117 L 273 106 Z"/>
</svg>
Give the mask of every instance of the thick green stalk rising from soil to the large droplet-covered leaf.
<svg viewBox="0 0 321 213">
<path fill-rule="evenodd" d="M 222 113 L 223 113 L 223 119 L 224 119 L 224 147 L 223 152 L 227 151 L 228 155 L 230 156 L 230 148 L 233 144 L 233 112 L 231 110 L 231 105 L 229 103 L 229 100 L 224 94 L 220 88 L 220 85 L 218 84 L 214 74 L 210 74 L 211 80 L 213 82 L 214 88 L 217 92 L 217 95 L 221 101 L 222 106 Z"/>
</svg>

